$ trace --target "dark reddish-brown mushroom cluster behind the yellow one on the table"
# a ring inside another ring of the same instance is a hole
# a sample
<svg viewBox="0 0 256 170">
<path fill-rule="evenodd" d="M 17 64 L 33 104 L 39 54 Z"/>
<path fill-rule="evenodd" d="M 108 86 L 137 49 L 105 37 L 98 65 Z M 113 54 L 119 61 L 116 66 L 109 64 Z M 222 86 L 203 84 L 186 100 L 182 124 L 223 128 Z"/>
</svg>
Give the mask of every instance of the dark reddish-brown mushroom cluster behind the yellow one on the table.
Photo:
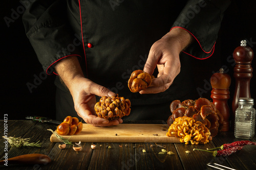
<svg viewBox="0 0 256 170">
<path fill-rule="evenodd" d="M 170 104 L 170 111 L 173 113 L 169 116 L 167 124 L 173 124 L 177 117 L 193 117 L 196 122 L 201 122 L 209 129 L 212 137 L 216 136 L 223 127 L 223 115 L 216 109 L 215 105 L 208 99 L 199 98 L 198 100 L 179 100 Z"/>
</svg>

